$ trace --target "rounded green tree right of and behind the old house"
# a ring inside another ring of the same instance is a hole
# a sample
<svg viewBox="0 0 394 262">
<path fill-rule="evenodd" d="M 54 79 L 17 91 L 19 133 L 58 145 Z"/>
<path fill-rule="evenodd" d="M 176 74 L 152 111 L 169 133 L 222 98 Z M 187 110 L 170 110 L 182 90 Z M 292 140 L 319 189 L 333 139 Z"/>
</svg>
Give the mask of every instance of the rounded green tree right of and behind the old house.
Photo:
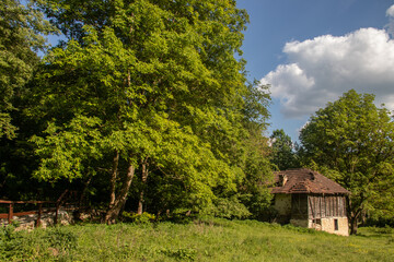
<svg viewBox="0 0 394 262">
<path fill-rule="evenodd" d="M 394 122 L 373 100 L 351 90 L 317 110 L 300 134 L 306 162 L 351 192 L 351 234 L 363 211 L 393 211 Z"/>
</svg>

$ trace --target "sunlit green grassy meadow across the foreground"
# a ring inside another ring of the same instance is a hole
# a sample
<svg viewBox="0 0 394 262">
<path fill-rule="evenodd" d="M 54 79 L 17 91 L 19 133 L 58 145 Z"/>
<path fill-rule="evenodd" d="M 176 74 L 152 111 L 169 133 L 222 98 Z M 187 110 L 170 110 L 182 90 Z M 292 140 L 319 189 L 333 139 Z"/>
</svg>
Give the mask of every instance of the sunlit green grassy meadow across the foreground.
<svg viewBox="0 0 394 262">
<path fill-rule="evenodd" d="M 2 228 L 0 261 L 394 261 L 391 228 L 339 237 L 254 221 Z"/>
</svg>

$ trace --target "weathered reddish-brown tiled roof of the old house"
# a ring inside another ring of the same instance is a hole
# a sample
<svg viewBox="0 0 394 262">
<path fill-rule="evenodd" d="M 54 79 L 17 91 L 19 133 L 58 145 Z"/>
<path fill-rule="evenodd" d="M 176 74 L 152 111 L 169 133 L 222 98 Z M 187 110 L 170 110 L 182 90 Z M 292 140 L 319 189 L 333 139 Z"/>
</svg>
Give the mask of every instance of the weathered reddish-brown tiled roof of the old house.
<svg viewBox="0 0 394 262">
<path fill-rule="evenodd" d="M 279 183 L 285 177 L 285 184 Z M 325 193 L 350 194 L 333 180 L 308 168 L 290 169 L 275 172 L 276 186 L 271 193 Z"/>
</svg>

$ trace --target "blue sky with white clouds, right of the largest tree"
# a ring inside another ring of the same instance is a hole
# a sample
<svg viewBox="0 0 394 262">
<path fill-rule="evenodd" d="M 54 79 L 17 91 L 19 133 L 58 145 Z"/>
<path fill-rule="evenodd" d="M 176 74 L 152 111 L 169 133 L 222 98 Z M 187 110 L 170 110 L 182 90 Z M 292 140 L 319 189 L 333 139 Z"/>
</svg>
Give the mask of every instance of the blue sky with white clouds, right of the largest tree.
<svg viewBox="0 0 394 262">
<path fill-rule="evenodd" d="M 394 0 L 240 0 L 250 80 L 271 84 L 271 127 L 293 140 L 311 114 L 355 88 L 394 109 Z M 392 62 L 393 61 L 393 62 Z M 368 75 L 368 78 L 366 76 Z"/>
</svg>

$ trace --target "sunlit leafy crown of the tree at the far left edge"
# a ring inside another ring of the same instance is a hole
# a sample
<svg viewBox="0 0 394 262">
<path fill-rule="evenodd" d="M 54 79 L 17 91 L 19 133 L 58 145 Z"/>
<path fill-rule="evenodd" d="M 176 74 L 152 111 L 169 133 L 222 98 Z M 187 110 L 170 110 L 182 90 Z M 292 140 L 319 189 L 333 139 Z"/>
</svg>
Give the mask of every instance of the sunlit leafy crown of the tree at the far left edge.
<svg viewBox="0 0 394 262">
<path fill-rule="evenodd" d="M 36 51 L 44 50 L 44 34 L 54 31 L 32 1 L 0 2 L 0 139 L 15 138 L 12 123 L 14 100 L 24 94 L 25 84 L 39 62 Z"/>
</svg>

